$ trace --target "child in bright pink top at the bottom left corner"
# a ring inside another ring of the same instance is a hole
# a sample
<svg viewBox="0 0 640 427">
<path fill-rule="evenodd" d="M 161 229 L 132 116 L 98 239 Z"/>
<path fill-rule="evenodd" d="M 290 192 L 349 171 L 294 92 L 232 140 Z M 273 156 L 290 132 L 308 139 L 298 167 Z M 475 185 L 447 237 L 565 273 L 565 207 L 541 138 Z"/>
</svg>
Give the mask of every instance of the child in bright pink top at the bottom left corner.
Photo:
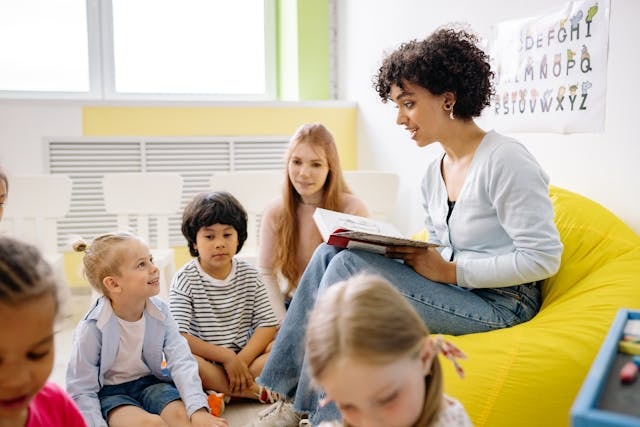
<svg viewBox="0 0 640 427">
<path fill-rule="evenodd" d="M 0 237 L 0 426 L 86 425 L 64 390 L 47 381 L 59 289 L 38 249 Z"/>
</svg>

